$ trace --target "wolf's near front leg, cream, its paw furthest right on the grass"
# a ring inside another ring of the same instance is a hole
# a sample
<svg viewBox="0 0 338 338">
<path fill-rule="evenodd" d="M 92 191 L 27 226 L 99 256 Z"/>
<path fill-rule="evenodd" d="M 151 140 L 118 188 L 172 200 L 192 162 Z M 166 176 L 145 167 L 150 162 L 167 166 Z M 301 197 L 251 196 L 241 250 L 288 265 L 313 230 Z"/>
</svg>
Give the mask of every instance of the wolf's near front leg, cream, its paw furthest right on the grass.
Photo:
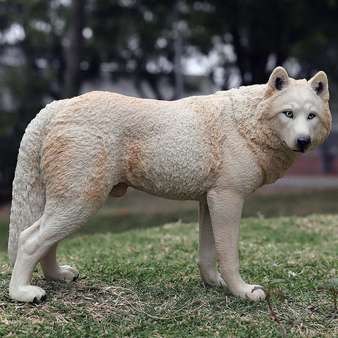
<svg viewBox="0 0 338 338">
<path fill-rule="evenodd" d="M 230 292 L 235 296 L 253 301 L 265 299 L 263 290 L 257 285 L 246 284 L 239 275 L 239 225 L 242 217 L 244 196 L 232 191 L 208 192 L 208 207 L 215 237 L 215 246 L 220 261 L 220 275 L 227 283 Z"/>
</svg>

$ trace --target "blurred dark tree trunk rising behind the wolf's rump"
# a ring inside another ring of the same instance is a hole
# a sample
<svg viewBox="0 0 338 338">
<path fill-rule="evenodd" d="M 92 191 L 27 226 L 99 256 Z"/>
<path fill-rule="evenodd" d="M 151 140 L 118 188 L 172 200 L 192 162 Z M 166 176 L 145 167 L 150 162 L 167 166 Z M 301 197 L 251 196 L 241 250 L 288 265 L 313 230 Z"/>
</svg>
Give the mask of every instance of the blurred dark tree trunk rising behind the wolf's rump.
<svg viewBox="0 0 338 338">
<path fill-rule="evenodd" d="M 73 97 L 79 93 L 82 77 L 80 62 L 83 53 L 82 30 L 84 27 L 84 0 L 72 0 L 70 6 L 70 30 L 67 67 L 65 70 L 65 91 L 63 96 Z"/>
</svg>

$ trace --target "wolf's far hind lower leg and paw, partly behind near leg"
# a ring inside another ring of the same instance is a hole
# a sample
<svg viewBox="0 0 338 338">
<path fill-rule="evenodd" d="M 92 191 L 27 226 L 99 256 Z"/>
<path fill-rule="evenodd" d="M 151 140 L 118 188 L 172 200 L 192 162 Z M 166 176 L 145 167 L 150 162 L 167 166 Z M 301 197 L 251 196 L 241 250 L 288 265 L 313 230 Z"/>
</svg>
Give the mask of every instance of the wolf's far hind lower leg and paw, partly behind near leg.
<svg viewBox="0 0 338 338">
<path fill-rule="evenodd" d="M 40 261 L 44 277 L 49 280 L 73 280 L 74 282 L 79 277 L 79 272 L 69 265 L 58 265 L 56 261 L 57 247 L 58 243 L 54 244 L 46 256 Z"/>
</svg>

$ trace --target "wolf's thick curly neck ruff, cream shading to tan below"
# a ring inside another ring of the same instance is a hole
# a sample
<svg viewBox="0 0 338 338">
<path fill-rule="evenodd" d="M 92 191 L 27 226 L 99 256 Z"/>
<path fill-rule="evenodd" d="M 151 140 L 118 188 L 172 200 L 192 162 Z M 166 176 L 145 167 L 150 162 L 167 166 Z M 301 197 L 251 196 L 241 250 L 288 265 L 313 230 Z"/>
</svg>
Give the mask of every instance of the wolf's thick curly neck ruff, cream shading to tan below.
<svg viewBox="0 0 338 338">
<path fill-rule="evenodd" d="M 263 104 L 265 89 L 265 84 L 239 87 L 231 96 L 239 133 L 247 139 L 247 144 L 261 166 L 261 186 L 283 177 L 299 157 L 298 153 L 290 151 L 280 142 L 273 126 L 264 118 L 264 110 L 268 109 L 267 104 Z"/>
</svg>

